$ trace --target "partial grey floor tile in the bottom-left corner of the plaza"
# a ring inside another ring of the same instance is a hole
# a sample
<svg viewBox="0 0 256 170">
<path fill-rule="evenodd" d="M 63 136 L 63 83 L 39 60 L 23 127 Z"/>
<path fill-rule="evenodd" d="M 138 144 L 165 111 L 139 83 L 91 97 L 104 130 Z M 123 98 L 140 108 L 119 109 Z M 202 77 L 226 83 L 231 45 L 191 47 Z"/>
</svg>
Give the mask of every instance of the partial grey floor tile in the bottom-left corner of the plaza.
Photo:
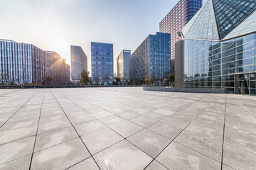
<svg viewBox="0 0 256 170">
<path fill-rule="evenodd" d="M 8 170 L 28 170 L 31 162 L 31 154 L 25 157 L 21 157 L 19 159 L 15 159 L 12 162 L 8 162 L 6 164 L 1 164 L 0 169 L 8 169 Z"/>
</svg>

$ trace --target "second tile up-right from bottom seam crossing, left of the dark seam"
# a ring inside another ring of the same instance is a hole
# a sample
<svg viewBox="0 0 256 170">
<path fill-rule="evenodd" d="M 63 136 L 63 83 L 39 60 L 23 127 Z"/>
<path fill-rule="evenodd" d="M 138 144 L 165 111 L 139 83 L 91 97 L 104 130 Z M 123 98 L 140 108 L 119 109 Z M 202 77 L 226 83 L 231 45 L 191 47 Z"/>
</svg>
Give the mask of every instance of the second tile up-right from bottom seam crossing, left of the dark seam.
<svg viewBox="0 0 256 170">
<path fill-rule="evenodd" d="M 157 122 L 153 125 L 149 126 L 147 129 L 158 133 L 164 137 L 169 138 L 170 140 L 174 140 L 174 138 L 181 132 L 180 128 L 176 128 L 175 126 L 168 125 L 166 123 Z"/>
</svg>

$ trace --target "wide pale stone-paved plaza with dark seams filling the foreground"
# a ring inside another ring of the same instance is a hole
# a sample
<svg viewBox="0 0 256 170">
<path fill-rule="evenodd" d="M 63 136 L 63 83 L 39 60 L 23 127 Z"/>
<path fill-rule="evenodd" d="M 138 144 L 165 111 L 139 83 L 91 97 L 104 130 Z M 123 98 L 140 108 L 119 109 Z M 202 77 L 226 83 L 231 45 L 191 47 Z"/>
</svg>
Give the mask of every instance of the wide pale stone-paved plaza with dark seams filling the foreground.
<svg viewBox="0 0 256 170">
<path fill-rule="evenodd" d="M 256 169 L 256 97 L 0 90 L 0 169 Z"/>
</svg>

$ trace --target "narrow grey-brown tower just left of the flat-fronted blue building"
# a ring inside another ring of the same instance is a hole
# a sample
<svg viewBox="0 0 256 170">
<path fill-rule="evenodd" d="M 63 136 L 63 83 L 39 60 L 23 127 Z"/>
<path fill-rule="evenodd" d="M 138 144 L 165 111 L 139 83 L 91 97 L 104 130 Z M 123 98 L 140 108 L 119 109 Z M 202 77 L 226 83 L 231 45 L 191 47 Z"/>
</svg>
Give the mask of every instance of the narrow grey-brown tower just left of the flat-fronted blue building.
<svg viewBox="0 0 256 170">
<path fill-rule="evenodd" d="M 71 52 L 71 79 L 80 81 L 82 70 L 87 70 L 87 56 L 80 46 L 70 46 Z"/>
</svg>

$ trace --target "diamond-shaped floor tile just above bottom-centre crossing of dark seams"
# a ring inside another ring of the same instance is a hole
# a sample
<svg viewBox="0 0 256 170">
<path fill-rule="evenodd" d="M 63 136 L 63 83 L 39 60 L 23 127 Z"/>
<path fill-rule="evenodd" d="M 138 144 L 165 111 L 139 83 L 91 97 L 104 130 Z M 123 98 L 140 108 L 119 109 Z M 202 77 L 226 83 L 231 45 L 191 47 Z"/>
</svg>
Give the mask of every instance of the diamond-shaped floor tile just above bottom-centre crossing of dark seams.
<svg viewBox="0 0 256 170">
<path fill-rule="evenodd" d="M 153 158 L 155 158 L 171 142 L 171 140 L 166 137 L 162 137 L 161 135 L 146 129 L 128 137 L 127 140 Z"/>
</svg>

